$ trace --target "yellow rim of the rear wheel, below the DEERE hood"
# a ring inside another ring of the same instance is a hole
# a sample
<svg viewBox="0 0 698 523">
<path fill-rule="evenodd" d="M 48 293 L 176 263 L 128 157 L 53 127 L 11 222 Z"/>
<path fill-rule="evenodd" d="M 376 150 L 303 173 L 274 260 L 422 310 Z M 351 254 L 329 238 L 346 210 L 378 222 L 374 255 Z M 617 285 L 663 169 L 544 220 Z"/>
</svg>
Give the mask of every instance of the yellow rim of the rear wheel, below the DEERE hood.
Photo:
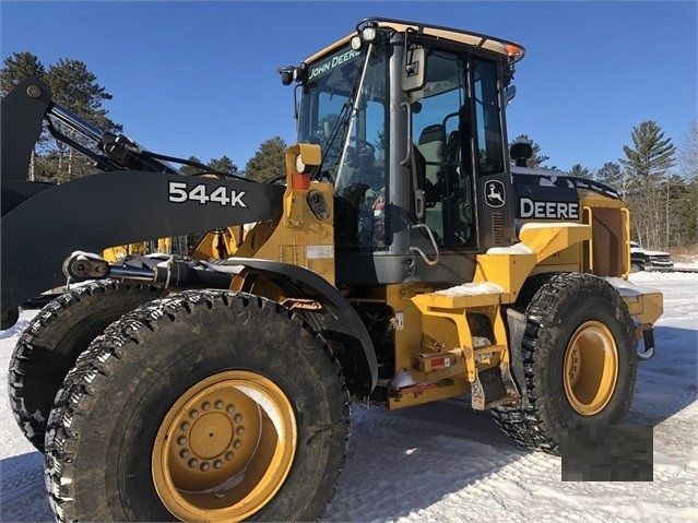
<svg viewBox="0 0 698 523">
<path fill-rule="evenodd" d="M 583 416 L 600 413 L 611 401 L 618 379 L 618 348 L 601 322 L 583 323 L 572 336 L 563 367 L 565 394 Z"/>
</svg>

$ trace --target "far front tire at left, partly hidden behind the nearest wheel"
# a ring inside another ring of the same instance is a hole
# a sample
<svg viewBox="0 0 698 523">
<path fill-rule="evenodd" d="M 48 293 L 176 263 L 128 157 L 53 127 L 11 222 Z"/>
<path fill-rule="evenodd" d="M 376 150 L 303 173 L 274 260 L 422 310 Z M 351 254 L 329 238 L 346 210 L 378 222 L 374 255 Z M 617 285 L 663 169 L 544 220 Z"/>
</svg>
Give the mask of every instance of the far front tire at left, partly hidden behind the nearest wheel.
<svg viewBox="0 0 698 523">
<path fill-rule="evenodd" d="M 39 452 L 56 392 L 78 356 L 109 323 L 159 293 L 147 285 L 95 282 L 62 294 L 29 322 L 10 359 L 8 390 L 14 419 Z"/>
</svg>

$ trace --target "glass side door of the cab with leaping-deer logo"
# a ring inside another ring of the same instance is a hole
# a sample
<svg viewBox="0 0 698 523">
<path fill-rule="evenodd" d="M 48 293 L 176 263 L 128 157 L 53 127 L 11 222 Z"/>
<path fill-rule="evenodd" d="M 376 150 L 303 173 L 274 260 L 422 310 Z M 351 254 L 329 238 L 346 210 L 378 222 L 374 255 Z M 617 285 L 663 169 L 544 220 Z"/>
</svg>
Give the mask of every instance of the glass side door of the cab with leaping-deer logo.
<svg viewBox="0 0 698 523">
<path fill-rule="evenodd" d="M 424 191 L 424 212 L 415 219 L 430 230 L 440 260 L 419 271 L 421 280 L 443 281 L 446 272 L 458 274 L 449 281 L 469 281 L 463 257 L 513 237 L 499 63 L 427 48 L 425 69 L 424 87 L 410 93 L 414 185 L 422 185 L 414 190 Z M 427 253 L 423 229 L 411 241 Z"/>
</svg>

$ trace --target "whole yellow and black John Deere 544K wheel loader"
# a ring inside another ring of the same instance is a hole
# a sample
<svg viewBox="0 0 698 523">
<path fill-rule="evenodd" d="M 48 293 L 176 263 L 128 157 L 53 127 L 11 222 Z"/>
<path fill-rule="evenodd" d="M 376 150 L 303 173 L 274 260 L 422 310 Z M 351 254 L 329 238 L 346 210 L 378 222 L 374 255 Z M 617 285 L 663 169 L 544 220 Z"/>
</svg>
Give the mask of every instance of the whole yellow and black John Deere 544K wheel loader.
<svg viewBox="0 0 698 523">
<path fill-rule="evenodd" d="M 57 520 L 316 520 L 352 400 L 470 394 L 551 453 L 567 427 L 623 423 L 662 296 L 626 280 L 630 216 L 614 189 L 508 148 L 523 55 L 359 22 L 279 69 L 299 95 L 282 185 L 185 176 L 173 164 L 186 161 L 19 84 L 2 100 L 3 318 L 69 289 L 22 335 L 10 395 Z M 24 181 L 43 120 L 102 173 Z M 242 224 L 256 224 L 244 238 Z M 94 254 L 201 230 L 192 258 Z"/>
</svg>

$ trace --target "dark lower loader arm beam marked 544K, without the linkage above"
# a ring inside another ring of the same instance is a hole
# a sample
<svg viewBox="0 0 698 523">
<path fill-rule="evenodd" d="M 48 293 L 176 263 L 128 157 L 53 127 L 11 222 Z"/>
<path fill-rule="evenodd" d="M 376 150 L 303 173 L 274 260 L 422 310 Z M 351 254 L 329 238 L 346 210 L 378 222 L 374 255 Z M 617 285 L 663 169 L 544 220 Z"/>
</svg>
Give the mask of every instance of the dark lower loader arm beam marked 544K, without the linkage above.
<svg viewBox="0 0 698 523">
<path fill-rule="evenodd" d="M 2 180 L 3 200 L 13 181 Z M 2 310 L 61 286 L 79 246 L 117 245 L 273 219 L 285 188 L 145 170 L 99 173 L 15 197 L 0 219 Z"/>
</svg>

